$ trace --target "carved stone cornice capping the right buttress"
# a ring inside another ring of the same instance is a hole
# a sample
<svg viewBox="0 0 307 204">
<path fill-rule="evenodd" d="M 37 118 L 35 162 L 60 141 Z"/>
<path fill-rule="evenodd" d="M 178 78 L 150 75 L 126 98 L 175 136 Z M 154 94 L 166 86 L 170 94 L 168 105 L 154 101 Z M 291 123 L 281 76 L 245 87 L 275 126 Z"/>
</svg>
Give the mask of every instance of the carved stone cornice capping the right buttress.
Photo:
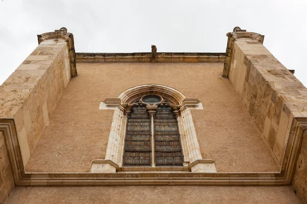
<svg viewBox="0 0 307 204">
<path fill-rule="evenodd" d="M 264 43 L 264 35 L 260 35 L 258 33 L 253 32 L 246 32 L 246 30 L 242 30 L 239 27 L 235 27 L 233 32 L 227 33 L 226 36 L 228 37 L 226 53 L 225 53 L 225 62 L 224 62 L 224 70 L 223 70 L 223 77 L 229 78 L 229 70 L 233 55 L 233 42 L 238 39 L 251 39 L 254 42 L 260 42 L 261 44 Z"/>
</svg>

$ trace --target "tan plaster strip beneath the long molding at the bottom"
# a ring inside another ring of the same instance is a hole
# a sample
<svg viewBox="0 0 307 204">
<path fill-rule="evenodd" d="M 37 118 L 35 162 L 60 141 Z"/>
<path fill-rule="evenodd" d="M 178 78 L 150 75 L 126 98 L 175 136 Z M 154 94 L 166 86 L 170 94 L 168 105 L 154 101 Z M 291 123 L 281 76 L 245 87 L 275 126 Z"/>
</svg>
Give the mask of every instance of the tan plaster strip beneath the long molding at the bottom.
<svg viewBox="0 0 307 204">
<path fill-rule="evenodd" d="M 300 203 L 291 186 L 16 187 L 13 203 Z"/>
</svg>

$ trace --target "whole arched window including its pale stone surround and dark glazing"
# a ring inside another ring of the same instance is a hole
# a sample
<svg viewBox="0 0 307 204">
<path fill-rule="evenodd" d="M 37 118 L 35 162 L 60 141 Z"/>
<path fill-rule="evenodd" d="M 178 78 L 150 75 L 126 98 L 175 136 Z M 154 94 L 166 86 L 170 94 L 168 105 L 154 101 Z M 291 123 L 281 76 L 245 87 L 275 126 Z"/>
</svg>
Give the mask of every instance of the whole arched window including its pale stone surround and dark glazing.
<svg viewBox="0 0 307 204">
<path fill-rule="evenodd" d="M 114 113 L 105 158 L 94 160 L 91 172 L 147 171 L 156 166 L 216 172 L 214 162 L 202 158 L 193 124 L 191 110 L 203 110 L 199 99 L 168 86 L 144 84 L 105 98 L 99 109 Z"/>
</svg>

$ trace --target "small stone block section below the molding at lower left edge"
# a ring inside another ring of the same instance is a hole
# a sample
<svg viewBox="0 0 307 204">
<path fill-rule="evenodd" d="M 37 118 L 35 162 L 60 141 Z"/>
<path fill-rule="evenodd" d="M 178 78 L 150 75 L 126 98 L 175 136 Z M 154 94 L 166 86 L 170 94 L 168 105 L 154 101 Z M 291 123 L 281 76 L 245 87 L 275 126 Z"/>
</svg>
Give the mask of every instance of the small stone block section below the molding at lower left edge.
<svg viewBox="0 0 307 204">
<path fill-rule="evenodd" d="M 14 189 L 13 173 L 3 133 L 0 132 L 0 203 L 4 203 Z"/>
</svg>

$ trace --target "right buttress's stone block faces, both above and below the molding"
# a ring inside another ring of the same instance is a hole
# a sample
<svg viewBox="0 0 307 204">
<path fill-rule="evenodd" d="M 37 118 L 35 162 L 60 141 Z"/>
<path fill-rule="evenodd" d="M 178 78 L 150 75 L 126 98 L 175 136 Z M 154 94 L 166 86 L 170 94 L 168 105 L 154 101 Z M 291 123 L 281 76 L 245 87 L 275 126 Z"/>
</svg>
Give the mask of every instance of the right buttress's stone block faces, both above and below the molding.
<svg viewBox="0 0 307 204">
<path fill-rule="evenodd" d="M 249 38 L 233 42 L 229 79 L 281 165 L 293 117 L 307 117 L 307 89 L 261 42 Z M 305 143 L 306 131 L 293 180 L 295 191 L 304 203 L 307 199 Z"/>
</svg>

